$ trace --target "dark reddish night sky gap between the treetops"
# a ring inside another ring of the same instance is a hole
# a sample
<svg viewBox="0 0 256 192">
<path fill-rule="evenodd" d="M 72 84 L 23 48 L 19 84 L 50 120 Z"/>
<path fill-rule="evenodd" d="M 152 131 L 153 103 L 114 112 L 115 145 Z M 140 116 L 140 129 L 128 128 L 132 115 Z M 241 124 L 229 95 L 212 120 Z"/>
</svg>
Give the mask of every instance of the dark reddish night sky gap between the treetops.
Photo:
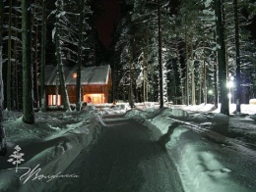
<svg viewBox="0 0 256 192">
<path fill-rule="evenodd" d="M 103 14 L 96 21 L 96 28 L 105 47 L 111 42 L 113 32 L 113 24 L 120 16 L 119 0 L 100 0 L 104 8 Z"/>
</svg>

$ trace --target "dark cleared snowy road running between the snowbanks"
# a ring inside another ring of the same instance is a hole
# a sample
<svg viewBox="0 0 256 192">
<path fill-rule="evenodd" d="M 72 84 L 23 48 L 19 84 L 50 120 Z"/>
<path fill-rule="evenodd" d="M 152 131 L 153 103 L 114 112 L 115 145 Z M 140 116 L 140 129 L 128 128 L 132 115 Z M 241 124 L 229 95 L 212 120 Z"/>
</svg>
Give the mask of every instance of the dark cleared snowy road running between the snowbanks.
<svg viewBox="0 0 256 192">
<path fill-rule="evenodd" d="M 147 127 L 120 116 L 104 122 L 94 147 L 66 170 L 80 177 L 67 179 L 59 191 L 183 191 L 175 167 L 159 142 L 150 140 Z"/>
</svg>

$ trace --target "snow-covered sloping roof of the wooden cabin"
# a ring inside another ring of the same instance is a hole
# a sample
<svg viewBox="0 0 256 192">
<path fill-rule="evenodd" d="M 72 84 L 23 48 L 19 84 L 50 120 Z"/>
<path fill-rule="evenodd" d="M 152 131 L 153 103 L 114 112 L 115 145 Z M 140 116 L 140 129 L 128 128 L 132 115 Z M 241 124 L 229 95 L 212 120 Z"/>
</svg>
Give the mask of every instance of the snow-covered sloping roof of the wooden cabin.
<svg viewBox="0 0 256 192">
<path fill-rule="evenodd" d="M 75 85 L 77 83 L 76 77 L 73 73 L 77 72 L 77 68 L 64 67 L 65 82 L 67 85 Z M 45 85 L 56 85 L 57 67 L 45 66 Z M 110 66 L 98 67 L 82 67 L 81 68 L 81 84 L 82 85 L 103 85 L 107 84 L 110 77 Z"/>
</svg>

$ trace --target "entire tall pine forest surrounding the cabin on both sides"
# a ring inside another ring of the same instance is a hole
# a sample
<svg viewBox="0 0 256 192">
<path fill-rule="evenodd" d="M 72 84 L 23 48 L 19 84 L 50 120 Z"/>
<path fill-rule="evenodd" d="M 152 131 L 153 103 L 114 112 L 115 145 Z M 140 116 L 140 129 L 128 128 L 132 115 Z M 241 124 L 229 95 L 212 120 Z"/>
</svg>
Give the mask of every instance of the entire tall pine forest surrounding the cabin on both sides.
<svg viewBox="0 0 256 192">
<path fill-rule="evenodd" d="M 58 69 L 65 111 L 71 110 L 65 66 L 77 67 L 81 87 L 82 66 L 109 64 L 111 100 L 131 107 L 221 103 L 228 115 L 230 102 L 239 114 L 240 104 L 255 97 L 253 0 L 119 0 L 119 6 L 105 47 L 96 29 L 104 12 L 99 0 L 0 1 L 1 138 L 3 110 L 23 111 L 26 123 L 34 123 L 35 109 L 46 110 L 45 65 Z M 76 110 L 81 100 L 77 89 Z"/>
</svg>

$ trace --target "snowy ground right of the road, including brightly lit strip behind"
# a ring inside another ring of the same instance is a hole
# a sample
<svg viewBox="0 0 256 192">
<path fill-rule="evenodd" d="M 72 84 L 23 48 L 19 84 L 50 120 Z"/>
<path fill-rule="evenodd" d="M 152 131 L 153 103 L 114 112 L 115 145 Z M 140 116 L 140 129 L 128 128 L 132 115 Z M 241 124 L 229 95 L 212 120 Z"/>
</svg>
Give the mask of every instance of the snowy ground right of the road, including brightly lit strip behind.
<svg viewBox="0 0 256 192">
<path fill-rule="evenodd" d="M 191 115 L 177 108 L 187 109 Z M 154 113 L 132 111 L 126 116 L 143 118 L 151 128 L 152 139 L 160 141 L 178 169 L 184 191 L 256 191 L 254 120 L 212 114 L 212 108 L 176 106 Z M 247 137 L 251 143 L 243 140 Z"/>
</svg>

